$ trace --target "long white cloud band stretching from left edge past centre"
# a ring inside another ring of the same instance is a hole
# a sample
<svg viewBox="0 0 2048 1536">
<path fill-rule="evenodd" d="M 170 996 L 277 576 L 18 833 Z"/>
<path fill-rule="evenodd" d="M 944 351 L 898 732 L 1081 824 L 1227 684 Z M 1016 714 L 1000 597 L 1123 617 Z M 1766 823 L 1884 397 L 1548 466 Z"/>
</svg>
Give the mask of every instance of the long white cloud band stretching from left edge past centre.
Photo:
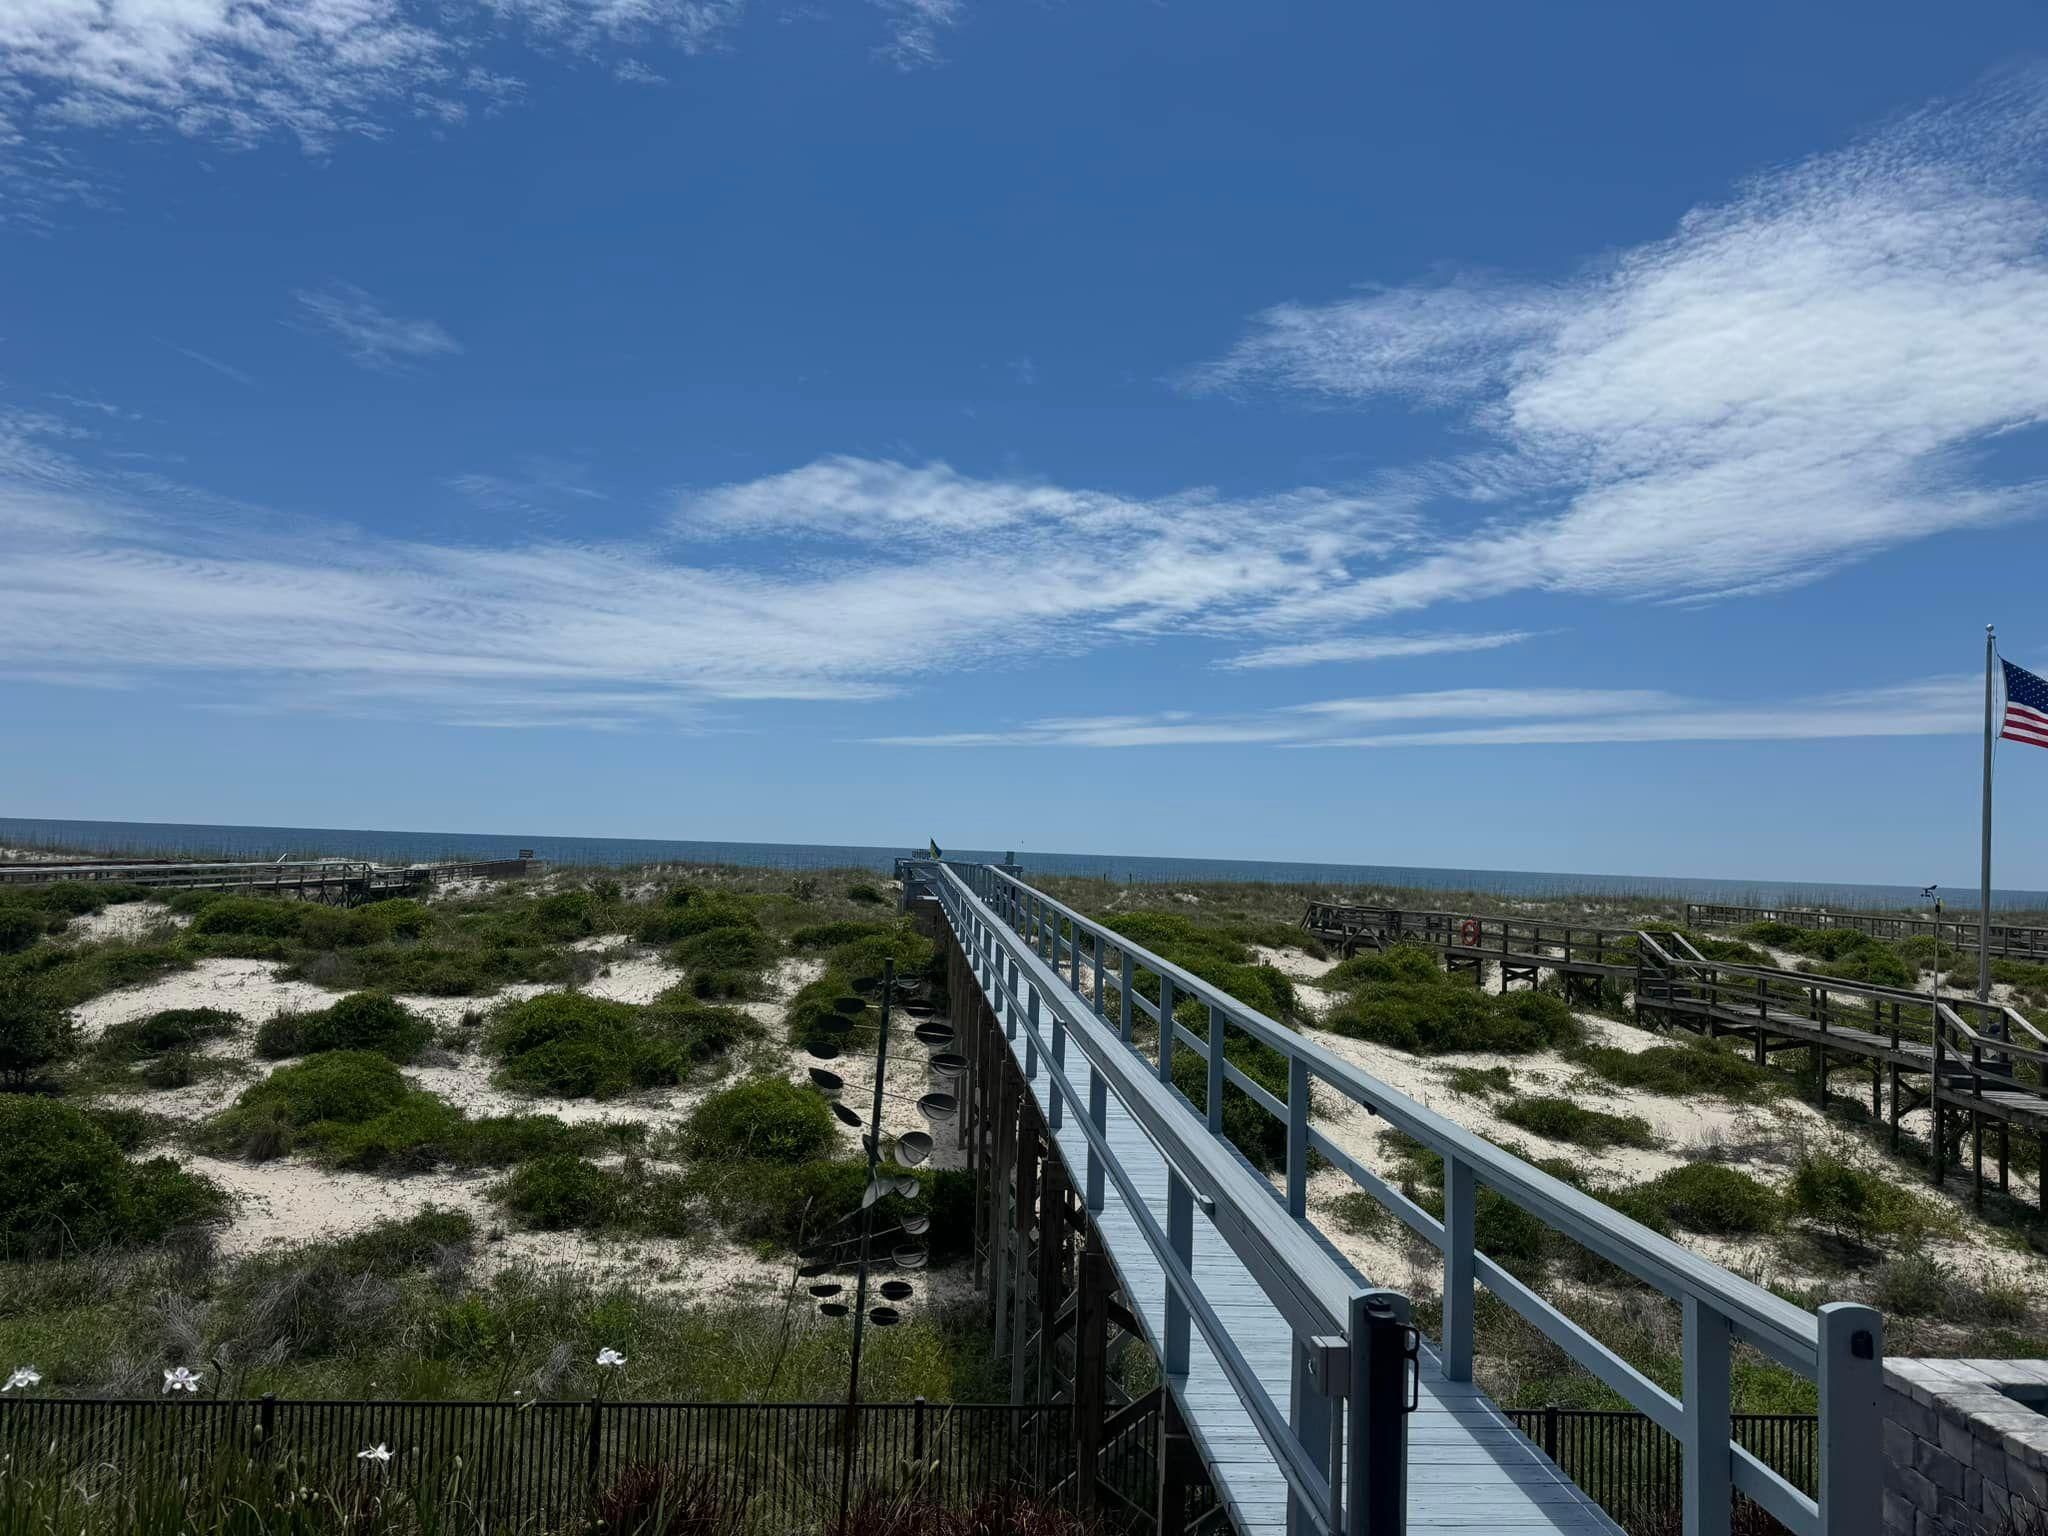
<svg viewBox="0 0 2048 1536">
<path fill-rule="evenodd" d="M 193 700 L 236 709 L 610 727 L 707 723 L 737 700 L 870 700 L 987 662 L 1255 627 L 1407 526 L 1327 494 L 1137 500 L 834 459 L 684 498 L 682 541 L 588 543 L 504 518 L 471 547 L 94 473 L 68 432 L 0 418 L 0 666 L 182 678 Z M 551 461 L 451 483 L 565 528 L 555 514 L 598 496 Z M 834 487 L 854 489 L 819 522 L 811 496 Z M 891 537 L 897 494 L 954 535 Z M 997 592 L 991 571 L 1022 575 Z"/>
</svg>

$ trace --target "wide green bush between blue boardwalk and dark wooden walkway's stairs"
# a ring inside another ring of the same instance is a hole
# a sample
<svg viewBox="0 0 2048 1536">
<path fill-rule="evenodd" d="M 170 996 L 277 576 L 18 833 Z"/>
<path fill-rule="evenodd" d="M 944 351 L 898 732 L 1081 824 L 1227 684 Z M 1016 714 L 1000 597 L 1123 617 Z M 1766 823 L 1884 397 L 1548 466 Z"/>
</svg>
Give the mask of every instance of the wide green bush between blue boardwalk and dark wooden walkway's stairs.
<svg viewBox="0 0 2048 1536">
<path fill-rule="evenodd" d="M 1432 950 L 1413 944 L 1356 954 L 1323 985 L 1348 993 L 1323 1016 L 1325 1030 L 1415 1055 L 1522 1055 L 1585 1038 L 1563 999 L 1530 989 L 1495 997 L 1448 975 Z"/>
</svg>

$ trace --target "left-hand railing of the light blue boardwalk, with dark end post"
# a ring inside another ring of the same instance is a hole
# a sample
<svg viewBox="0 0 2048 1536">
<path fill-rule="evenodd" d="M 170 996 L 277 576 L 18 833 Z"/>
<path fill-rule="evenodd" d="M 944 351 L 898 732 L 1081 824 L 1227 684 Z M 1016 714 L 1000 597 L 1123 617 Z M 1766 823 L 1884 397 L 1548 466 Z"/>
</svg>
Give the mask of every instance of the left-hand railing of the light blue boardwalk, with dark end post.
<svg viewBox="0 0 2048 1536">
<path fill-rule="evenodd" d="M 1042 901 L 1030 887 L 989 864 L 924 864 L 920 874 L 926 872 L 1004 1034 L 1024 1051 L 1026 1079 L 1044 1077 L 1049 1126 L 1059 1130 L 1071 1120 L 1087 1139 L 1090 1212 L 1104 1208 L 1106 1186 L 1114 1184 L 1163 1274 L 1165 1323 L 1157 1348 L 1165 1378 L 1176 1386 L 1186 1382 L 1190 1337 L 1200 1333 L 1286 1481 L 1294 1528 L 1343 1536 L 1399 1532 L 1407 1298 L 1360 1284 L 1305 1223 L 1274 1221 L 1272 1186 L 1219 1135 L 1221 1092 L 1212 1092 L 1210 1104 L 1219 1108 L 1204 1122 L 1174 1090 L 1169 1073 L 1130 1049 L 1130 1010 L 1122 1012 L 1120 1036 L 1106 1018 L 1102 942 L 1094 948 L 1090 1001 L 1081 946 L 1055 938 L 1051 909 L 1028 905 Z M 1126 965 L 1133 963 L 1151 958 L 1128 950 Z M 1120 995 L 1135 995 L 1128 971 Z M 1087 1094 L 1069 1073 L 1075 1055 L 1092 1069 Z M 1112 1092 L 1165 1159 L 1163 1227 L 1110 1147 Z M 1290 1161 L 1300 1163 L 1303 1178 L 1307 1157 L 1309 1145 L 1298 1141 Z M 1288 1403 L 1272 1399 L 1194 1276 L 1198 1204 L 1288 1321 L 1294 1335 Z"/>
</svg>

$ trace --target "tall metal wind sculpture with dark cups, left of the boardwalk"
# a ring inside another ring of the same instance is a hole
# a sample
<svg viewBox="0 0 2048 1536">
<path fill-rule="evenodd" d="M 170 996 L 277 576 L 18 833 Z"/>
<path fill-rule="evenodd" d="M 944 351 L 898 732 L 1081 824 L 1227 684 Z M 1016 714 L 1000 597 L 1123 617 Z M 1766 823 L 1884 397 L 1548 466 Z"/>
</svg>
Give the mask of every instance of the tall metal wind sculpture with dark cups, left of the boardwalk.
<svg viewBox="0 0 2048 1536">
<path fill-rule="evenodd" d="M 854 1350 L 852 1366 L 846 1378 L 846 1452 L 840 1458 L 840 1518 L 846 1518 L 846 1503 L 852 1489 L 852 1468 L 854 1468 L 854 1417 L 860 1411 L 860 1346 L 866 1333 L 866 1325 L 874 1327 L 895 1327 L 903 1321 L 901 1303 L 909 1300 L 913 1286 L 901 1276 L 891 1276 L 881 1282 L 881 1305 L 868 1307 L 868 1272 L 883 1260 L 874 1253 L 874 1239 L 889 1241 L 887 1266 L 893 1270 L 915 1272 L 930 1262 L 930 1249 L 926 1247 L 926 1235 L 932 1229 L 930 1212 L 905 1210 L 893 1227 L 887 1231 L 877 1231 L 874 1221 L 881 1210 L 881 1202 L 889 1196 L 899 1200 L 915 1200 L 920 1194 L 918 1178 L 913 1174 L 883 1174 L 883 1145 L 891 1141 L 883 1130 L 883 1104 L 885 1100 L 911 1100 L 909 1094 L 895 1094 L 889 1090 L 889 1024 L 891 1012 L 901 1001 L 903 1014 L 918 1022 L 918 1040 L 932 1049 L 930 1069 L 944 1077 L 946 1081 L 956 1079 L 967 1069 L 967 1057 L 954 1051 L 952 1026 L 938 1018 L 938 1012 L 930 1006 L 926 997 L 924 983 L 909 983 L 899 987 L 895 977 L 895 961 L 885 963 L 879 977 L 860 977 L 852 983 L 852 993 L 846 997 L 836 997 L 831 1004 L 831 1014 L 819 1024 L 823 1040 L 809 1047 L 811 1055 L 819 1061 L 840 1059 L 842 1042 L 850 1044 L 850 1036 L 860 1030 L 874 1030 L 874 1057 L 872 1085 L 852 1083 L 852 1087 L 872 1087 L 872 1106 L 868 1116 L 862 1118 L 858 1110 L 848 1108 L 838 1096 L 848 1087 L 846 1077 L 827 1067 L 811 1067 L 811 1081 L 817 1083 L 827 1098 L 831 1098 L 831 1112 L 842 1124 L 860 1130 L 860 1145 L 868 1153 L 868 1184 L 860 1192 L 860 1210 L 842 1219 L 836 1227 L 829 1227 L 815 1241 L 807 1243 L 797 1268 L 797 1276 L 811 1282 L 811 1296 L 817 1298 L 817 1311 L 821 1317 L 852 1317 L 854 1319 Z M 918 1112 L 926 1120 L 938 1122 L 952 1118 L 961 1100 L 956 1094 L 930 1092 L 915 1096 Z M 897 1167 L 918 1167 L 932 1155 L 932 1133 L 930 1130 L 903 1130 L 893 1139 L 889 1153 Z M 846 1233 L 844 1229 L 852 1223 L 860 1223 L 858 1233 Z M 844 1300 L 846 1284 L 834 1280 L 836 1272 L 854 1266 L 854 1303 L 848 1307 Z"/>
</svg>

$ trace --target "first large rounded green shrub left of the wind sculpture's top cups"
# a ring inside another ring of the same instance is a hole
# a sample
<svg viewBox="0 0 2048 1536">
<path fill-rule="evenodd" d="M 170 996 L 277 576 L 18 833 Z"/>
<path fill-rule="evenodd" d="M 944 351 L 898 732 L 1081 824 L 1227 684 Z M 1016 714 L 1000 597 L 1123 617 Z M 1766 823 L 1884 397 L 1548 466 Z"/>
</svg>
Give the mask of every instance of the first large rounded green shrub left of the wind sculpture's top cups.
<svg viewBox="0 0 2048 1536">
<path fill-rule="evenodd" d="M 635 1004 L 551 991 L 506 1008 L 485 1034 L 508 1087 L 563 1098 L 616 1098 L 682 1081 L 688 1057 L 674 1024 Z"/>
</svg>

